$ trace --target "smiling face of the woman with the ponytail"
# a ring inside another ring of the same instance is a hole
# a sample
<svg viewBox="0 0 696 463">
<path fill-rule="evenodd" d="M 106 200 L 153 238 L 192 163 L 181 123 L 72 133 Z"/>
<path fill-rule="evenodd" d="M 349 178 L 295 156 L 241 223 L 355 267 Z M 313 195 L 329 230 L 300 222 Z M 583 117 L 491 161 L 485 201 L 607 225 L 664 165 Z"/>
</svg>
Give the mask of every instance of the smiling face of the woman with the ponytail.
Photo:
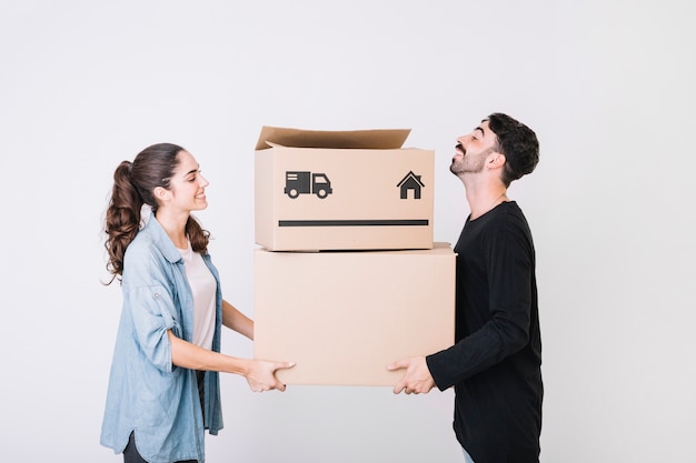
<svg viewBox="0 0 696 463">
<path fill-rule="evenodd" d="M 200 174 L 200 167 L 191 153 L 180 151 L 177 158 L 179 164 L 169 181 L 171 205 L 186 211 L 206 209 L 206 187 L 210 183 Z"/>
</svg>

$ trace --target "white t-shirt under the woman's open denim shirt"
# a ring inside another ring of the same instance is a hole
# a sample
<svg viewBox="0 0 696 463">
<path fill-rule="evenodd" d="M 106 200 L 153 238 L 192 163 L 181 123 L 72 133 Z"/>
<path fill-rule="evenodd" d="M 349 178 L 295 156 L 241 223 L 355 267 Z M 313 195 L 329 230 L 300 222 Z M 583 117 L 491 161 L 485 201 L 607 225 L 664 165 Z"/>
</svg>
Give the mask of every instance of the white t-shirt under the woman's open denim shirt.
<svg viewBox="0 0 696 463">
<path fill-rule="evenodd" d="M 177 248 L 178 249 L 178 248 Z M 216 281 L 203 258 L 191 249 L 179 249 L 186 276 L 193 293 L 193 344 L 212 349 Z"/>
</svg>

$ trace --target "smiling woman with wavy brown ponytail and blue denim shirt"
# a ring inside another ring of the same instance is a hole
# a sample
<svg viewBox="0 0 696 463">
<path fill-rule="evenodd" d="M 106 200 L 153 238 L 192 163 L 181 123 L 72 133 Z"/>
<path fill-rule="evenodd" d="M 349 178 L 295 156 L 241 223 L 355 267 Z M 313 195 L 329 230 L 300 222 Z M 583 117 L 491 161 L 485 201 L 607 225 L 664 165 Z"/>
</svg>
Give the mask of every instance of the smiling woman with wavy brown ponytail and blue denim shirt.
<svg viewBox="0 0 696 463">
<path fill-rule="evenodd" d="M 191 215 L 208 207 L 207 185 L 196 159 L 169 143 L 113 174 L 105 245 L 123 308 L 101 443 L 126 463 L 202 462 L 203 430 L 222 427 L 218 372 L 285 391 L 275 372 L 294 365 L 220 353 L 221 325 L 253 339 L 253 322 L 222 299 L 209 234 Z M 143 204 L 152 214 L 141 228 Z"/>
</svg>

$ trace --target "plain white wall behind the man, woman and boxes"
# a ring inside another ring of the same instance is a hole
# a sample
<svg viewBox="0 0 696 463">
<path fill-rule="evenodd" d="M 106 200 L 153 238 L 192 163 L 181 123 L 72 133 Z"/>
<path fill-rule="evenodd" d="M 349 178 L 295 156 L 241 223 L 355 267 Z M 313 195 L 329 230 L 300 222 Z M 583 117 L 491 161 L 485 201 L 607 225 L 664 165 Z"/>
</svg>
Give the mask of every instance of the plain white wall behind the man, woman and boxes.
<svg viewBox="0 0 696 463">
<path fill-rule="evenodd" d="M 435 238 L 454 242 L 455 138 L 503 111 L 541 142 L 510 189 L 538 254 L 541 461 L 693 461 L 694 20 L 683 0 L 1 0 L 3 460 L 121 461 L 99 445 L 121 160 L 161 141 L 197 157 L 226 295 L 252 315 L 261 125 L 412 129 L 437 153 Z M 209 462 L 461 461 L 451 391 L 222 387 Z"/>
</svg>

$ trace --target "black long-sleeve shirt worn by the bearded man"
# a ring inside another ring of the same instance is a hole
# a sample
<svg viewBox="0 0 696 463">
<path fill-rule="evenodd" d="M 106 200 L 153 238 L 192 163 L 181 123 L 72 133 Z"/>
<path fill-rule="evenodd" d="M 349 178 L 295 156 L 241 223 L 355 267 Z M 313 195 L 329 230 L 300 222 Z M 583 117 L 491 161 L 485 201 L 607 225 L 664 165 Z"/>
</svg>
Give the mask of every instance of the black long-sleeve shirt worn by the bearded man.
<svg viewBox="0 0 696 463">
<path fill-rule="evenodd" d="M 467 219 L 455 252 L 456 344 L 428 368 L 438 389 L 455 386 L 455 433 L 476 463 L 536 463 L 541 338 L 534 242 L 517 203 Z"/>
</svg>

